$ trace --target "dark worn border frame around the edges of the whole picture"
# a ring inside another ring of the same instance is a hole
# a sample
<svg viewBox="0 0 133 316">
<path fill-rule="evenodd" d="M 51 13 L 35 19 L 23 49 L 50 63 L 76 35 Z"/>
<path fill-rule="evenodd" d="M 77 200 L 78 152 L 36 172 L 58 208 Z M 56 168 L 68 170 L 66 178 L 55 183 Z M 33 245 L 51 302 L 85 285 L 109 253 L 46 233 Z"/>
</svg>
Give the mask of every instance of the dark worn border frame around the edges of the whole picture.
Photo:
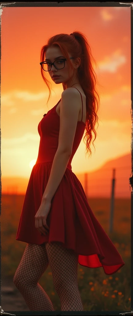
<svg viewBox="0 0 133 316">
<path fill-rule="evenodd" d="M 129 178 L 131 191 L 131 245 L 133 245 L 133 2 L 0 2 L 0 16 L 2 15 L 3 7 L 130 7 L 131 12 L 131 122 L 132 122 L 132 133 L 131 133 L 131 175 Z M 0 39 L 1 39 L 1 24 L 0 24 Z M 1 59 L 1 41 L 0 41 L 0 59 Z M 1 84 L 1 72 L 0 72 L 0 84 Z M 0 103 L 1 109 L 1 103 Z M 0 128 L 0 159 L 1 159 L 1 128 Z M 0 160 L 1 162 L 1 160 Z M 1 163 L 0 163 L 0 215 L 1 215 Z M 0 226 L 0 241 L 1 241 L 1 226 Z M 0 282 L 0 315 L 127 315 L 133 314 L 133 251 L 131 248 L 131 311 L 121 312 L 31 312 L 31 311 L 17 311 L 17 312 L 4 312 L 1 306 L 1 282 Z M 0 243 L 0 276 L 1 276 L 1 243 Z M 0 278 L 1 281 L 1 278 Z M 15 314 L 14 314 L 15 313 Z"/>
</svg>

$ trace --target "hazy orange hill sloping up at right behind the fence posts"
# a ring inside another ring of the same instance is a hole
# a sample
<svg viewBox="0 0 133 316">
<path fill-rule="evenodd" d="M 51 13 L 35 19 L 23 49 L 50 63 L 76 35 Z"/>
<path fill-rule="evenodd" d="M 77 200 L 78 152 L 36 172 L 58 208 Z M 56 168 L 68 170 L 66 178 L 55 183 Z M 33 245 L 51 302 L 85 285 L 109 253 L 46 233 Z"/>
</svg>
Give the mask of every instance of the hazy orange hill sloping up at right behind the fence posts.
<svg viewBox="0 0 133 316">
<path fill-rule="evenodd" d="M 107 161 L 101 168 L 87 173 L 88 190 L 85 189 L 84 174 L 76 174 L 88 197 L 110 197 L 113 169 L 115 169 L 115 197 L 131 196 L 129 178 L 131 176 L 131 154 Z"/>
</svg>

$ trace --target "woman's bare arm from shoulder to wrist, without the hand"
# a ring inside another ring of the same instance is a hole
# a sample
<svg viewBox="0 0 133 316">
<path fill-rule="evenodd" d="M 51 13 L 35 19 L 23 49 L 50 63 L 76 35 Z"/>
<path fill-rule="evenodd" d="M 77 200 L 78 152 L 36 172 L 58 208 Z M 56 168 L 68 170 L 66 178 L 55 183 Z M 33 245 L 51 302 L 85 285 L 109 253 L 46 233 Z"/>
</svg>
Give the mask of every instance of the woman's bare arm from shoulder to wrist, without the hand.
<svg viewBox="0 0 133 316">
<path fill-rule="evenodd" d="M 58 148 L 53 159 L 42 202 L 43 200 L 51 201 L 66 171 L 68 161 L 72 155 L 80 105 L 81 96 L 76 89 L 67 88 L 62 92 Z"/>
</svg>

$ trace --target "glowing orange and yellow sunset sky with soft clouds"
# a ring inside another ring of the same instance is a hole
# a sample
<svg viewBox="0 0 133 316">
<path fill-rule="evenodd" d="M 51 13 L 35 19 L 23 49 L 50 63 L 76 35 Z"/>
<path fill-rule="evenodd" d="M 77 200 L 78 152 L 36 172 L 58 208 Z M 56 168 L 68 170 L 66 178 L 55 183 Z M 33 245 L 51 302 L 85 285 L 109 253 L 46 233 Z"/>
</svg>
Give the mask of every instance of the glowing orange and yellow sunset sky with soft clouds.
<svg viewBox="0 0 133 316">
<path fill-rule="evenodd" d="M 92 156 L 85 157 L 82 139 L 72 171 L 101 167 L 109 159 L 130 153 L 131 47 L 129 7 L 4 7 L 1 18 L 1 172 L 27 177 L 37 159 L 38 124 L 60 100 L 62 84 L 52 80 L 52 97 L 41 76 L 40 51 L 59 33 L 85 34 L 97 62 L 100 108 Z M 49 76 L 50 79 L 50 76 Z M 85 135 L 85 132 L 84 132 Z M 84 136 L 83 136 L 84 137 Z"/>
</svg>

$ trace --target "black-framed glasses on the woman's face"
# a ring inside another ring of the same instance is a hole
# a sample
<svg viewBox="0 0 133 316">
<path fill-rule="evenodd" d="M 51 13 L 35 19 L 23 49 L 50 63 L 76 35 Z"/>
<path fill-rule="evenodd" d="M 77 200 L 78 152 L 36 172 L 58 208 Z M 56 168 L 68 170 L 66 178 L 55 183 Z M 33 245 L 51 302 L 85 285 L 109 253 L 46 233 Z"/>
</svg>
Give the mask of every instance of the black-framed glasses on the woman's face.
<svg viewBox="0 0 133 316">
<path fill-rule="evenodd" d="M 75 57 L 70 57 L 70 59 L 75 58 Z M 52 68 L 52 65 L 54 65 L 54 67 L 56 69 L 62 69 L 65 67 L 65 61 L 67 59 L 66 58 L 60 58 L 60 59 L 56 59 L 54 61 L 54 63 L 48 62 L 48 61 L 42 61 L 40 63 L 41 67 L 43 68 L 44 71 L 50 71 Z"/>
</svg>

